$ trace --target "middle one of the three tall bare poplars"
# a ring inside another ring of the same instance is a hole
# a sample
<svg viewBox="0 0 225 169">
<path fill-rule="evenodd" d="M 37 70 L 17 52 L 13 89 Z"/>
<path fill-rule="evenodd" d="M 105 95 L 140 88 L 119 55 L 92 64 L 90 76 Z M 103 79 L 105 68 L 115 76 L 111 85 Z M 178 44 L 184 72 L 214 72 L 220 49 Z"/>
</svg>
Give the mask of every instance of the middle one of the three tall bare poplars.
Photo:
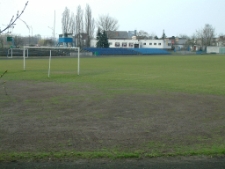
<svg viewBox="0 0 225 169">
<path fill-rule="evenodd" d="M 79 5 L 77 7 L 77 15 L 76 15 L 76 45 L 78 47 L 82 47 L 82 33 L 84 32 L 84 24 L 83 24 L 83 10 Z"/>
</svg>

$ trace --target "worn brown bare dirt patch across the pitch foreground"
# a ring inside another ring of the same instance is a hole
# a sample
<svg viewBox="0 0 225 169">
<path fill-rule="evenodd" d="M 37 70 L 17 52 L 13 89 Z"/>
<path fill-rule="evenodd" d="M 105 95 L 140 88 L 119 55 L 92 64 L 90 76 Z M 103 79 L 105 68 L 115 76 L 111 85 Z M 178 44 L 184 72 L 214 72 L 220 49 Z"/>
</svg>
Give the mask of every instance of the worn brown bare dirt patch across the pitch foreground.
<svg viewBox="0 0 225 169">
<path fill-rule="evenodd" d="M 0 90 L 0 151 L 170 153 L 174 145 L 224 144 L 225 97 L 117 94 L 91 86 L 7 82 Z"/>
</svg>

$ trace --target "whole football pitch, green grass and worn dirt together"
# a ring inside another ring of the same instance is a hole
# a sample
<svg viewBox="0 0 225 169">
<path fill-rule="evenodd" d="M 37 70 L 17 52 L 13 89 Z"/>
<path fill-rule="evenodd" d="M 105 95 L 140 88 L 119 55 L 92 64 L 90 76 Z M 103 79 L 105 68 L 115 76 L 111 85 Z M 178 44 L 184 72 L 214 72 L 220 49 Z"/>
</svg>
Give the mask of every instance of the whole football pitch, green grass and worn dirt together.
<svg viewBox="0 0 225 169">
<path fill-rule="evenodd" d="M 225 154 L 225 56 L 0 58 L 0 161 Z M 4 72 L 7 72 L 4 74 Z"/>
</svg>

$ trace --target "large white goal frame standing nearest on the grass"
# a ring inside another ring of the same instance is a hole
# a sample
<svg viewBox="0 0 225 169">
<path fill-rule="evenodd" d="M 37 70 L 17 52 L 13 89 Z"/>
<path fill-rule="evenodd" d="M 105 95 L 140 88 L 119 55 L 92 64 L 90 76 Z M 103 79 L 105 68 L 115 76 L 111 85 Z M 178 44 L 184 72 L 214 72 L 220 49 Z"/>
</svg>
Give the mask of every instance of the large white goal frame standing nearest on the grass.
<svg viewBox="0 0 225 169">
<path fill-rule="evenodd" d="M 48 66 L 48 77 L 50 77 L 50 68 L 51 68 L 51 58 L 52 52 L 51 49 L 70 49 L 77 52 L 77 75 L 80 75 L 80 48 L 79 47 L 31 47 L 24 46 L 23 47 L 23 70 L 26 70 L 26 58 L 28 58 L 29 49 L 49 49 L 49 66 Z"/>
</svg>

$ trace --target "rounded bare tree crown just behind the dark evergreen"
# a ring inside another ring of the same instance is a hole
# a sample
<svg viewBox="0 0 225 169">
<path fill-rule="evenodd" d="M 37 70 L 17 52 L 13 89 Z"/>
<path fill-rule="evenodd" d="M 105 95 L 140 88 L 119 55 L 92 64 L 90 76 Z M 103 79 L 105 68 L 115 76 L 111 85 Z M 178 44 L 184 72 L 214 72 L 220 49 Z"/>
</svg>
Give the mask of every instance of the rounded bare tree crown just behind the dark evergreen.
<svg viewBox="0 0 225 169">
<path fill-rule="evenodd" d="M 116 31 L 118 29 L 118 20 L 109 15 L 101 15 L 97 21 L 97 27 L 105 31 Z"/>
</svg>

